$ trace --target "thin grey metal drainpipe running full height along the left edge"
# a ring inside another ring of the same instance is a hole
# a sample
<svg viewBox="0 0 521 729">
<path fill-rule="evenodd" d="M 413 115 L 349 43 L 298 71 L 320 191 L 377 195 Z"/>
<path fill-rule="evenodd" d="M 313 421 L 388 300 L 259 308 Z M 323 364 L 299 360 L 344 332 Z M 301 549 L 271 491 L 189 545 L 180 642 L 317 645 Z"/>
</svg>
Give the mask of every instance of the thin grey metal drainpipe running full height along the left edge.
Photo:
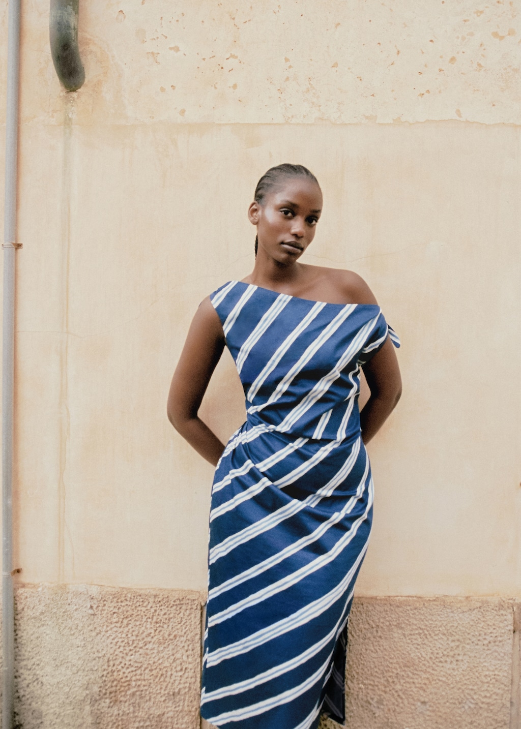
<svg viewBox="0 0 521 729">
<path fill-rule="evenodd" d="M 2 313 L 2 728 L 12 729 L 15 695 L 15 601 L 12 585 L 12 436 L 15 374 L 15 252 L 18 184 L 20 0 L 9 0 L 5 125 L 4 310 Z"/>
</svg>

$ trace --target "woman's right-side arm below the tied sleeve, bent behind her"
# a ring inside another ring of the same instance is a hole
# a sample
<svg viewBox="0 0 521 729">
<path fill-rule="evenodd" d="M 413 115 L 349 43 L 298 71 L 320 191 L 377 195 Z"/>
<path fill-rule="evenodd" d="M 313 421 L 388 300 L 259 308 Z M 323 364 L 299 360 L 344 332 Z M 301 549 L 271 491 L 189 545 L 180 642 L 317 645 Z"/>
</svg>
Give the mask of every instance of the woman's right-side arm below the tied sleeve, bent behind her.
<svg viewBox="0 0 521 729">
<path fill-rule="evenodd" d="M 360 413 L 363 443 L 368 443 L 393 412 L 401 396 L 401 375 L 395 348 L 390 338 L 367 364 L 363 374 L 371 397 Z"/>
</svg>

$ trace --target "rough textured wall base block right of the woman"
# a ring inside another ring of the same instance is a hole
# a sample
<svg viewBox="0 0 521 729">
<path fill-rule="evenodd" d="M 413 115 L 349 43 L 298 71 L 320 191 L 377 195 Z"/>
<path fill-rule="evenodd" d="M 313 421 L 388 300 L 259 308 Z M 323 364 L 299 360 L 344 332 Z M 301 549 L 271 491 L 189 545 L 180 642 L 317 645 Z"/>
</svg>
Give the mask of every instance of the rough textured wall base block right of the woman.
<svg viewBox="0 0 521 729">
<path fill-rule="evenodd" d="M 519 706 L 512 717 L 510 706 L 519 682 L 514 675 L 512 686 L 515 608 L 493 598 L 355 601 L 347 726 L 518 729 Z"/>
</svg>

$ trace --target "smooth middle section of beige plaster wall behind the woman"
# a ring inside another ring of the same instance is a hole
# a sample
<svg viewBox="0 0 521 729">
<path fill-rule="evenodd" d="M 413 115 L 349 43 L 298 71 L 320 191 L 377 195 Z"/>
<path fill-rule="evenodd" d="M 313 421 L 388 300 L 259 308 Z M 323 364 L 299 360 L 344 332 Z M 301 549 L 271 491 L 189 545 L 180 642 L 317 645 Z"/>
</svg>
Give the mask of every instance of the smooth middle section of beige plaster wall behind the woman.
<svg viewBox="0 0 521 729">
<path fill-rule="evenodd" d="M 323 182 L 308 259 L 366 276 L 404 340 L 360 590 L 520 594 L 517 144 L 460 122 L 24 127 L 23 579 L 204 589 L 212 469 L 165 397 L 198 302 L 252 266 L 252 169 L 289 157 Z M 229 363 L 216 385 L 230 434 Z"/>
</svg>

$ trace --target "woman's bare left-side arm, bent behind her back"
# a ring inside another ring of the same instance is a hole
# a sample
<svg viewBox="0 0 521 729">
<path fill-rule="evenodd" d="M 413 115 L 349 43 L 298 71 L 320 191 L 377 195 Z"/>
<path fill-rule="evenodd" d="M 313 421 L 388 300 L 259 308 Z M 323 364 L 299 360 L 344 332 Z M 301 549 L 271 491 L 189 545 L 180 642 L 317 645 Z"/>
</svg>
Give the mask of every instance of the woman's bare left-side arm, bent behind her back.
<svg viewBox="0 0 521 729">
<path fill-rule="evenodd" d="M 214 466 L 225 447 L 197 413 L 223 348 L 223 327 L 208 297 L 190 325 L 171 381 L 166 412 L 177 432 Z"/>
</svg>

